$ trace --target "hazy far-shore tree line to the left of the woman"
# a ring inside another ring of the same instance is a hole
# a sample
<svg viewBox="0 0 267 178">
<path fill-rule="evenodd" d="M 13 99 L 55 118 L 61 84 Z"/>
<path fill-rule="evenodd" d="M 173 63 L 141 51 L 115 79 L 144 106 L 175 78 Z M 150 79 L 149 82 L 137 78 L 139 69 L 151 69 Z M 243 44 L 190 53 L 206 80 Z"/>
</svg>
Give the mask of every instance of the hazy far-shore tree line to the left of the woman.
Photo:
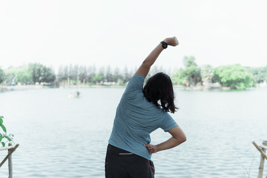
<svg viewBox="0 0 267 178">
<path fill-rule="evenodd" d="M 40 63 L 33 63 L 20 67 L 9 67 L 6 70 L 0 68 L 0 84 L 2 85 L 60 85 L 69 81 L 71 85 L 77 85 L 79 81 L 85 81 L 88 85 L 124 85 L 133 76 L 133 71 L 127 67 L 123 70 L 110 66 L 96 69 L 95 66 L 61 65 L 57 74 L 52 68 Z"/>
</svg>

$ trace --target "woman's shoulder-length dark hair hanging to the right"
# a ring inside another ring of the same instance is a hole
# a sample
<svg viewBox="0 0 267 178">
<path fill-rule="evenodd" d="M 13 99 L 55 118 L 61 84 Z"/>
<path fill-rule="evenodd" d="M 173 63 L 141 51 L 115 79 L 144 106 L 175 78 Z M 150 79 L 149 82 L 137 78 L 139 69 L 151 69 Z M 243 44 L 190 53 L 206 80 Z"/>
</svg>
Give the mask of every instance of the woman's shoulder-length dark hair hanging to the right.
<svg viewBox="0 0 267 178">
<path fill-rule="evenodd" d="M 162 72 L 150 77 L 143 88 L 143 93 L 149 102 L 162 107 L 166 112 L 175 113 L 178 107 L 174 103 L 174 89 L 171 78 Z M 159 103 L 160 102 L 160 103 Z"/>
</svg>

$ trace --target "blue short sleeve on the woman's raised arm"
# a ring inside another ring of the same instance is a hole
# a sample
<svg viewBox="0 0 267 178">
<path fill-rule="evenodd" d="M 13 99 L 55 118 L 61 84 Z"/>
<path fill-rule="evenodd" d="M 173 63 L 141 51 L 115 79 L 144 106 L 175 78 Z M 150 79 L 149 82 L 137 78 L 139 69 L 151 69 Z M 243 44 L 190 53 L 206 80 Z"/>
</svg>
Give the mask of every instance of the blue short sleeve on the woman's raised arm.
<svg viewBox="0 0 267 178">
<path fill-rule="evenodd" d="M 142 91 L 144 85 L 144 77 L 140 75 L 136 75 L 132 77 L 132 79 L 129 81 L 125 93 L 127 92 L 136 92 L 136 91 Z"/>
</svg>

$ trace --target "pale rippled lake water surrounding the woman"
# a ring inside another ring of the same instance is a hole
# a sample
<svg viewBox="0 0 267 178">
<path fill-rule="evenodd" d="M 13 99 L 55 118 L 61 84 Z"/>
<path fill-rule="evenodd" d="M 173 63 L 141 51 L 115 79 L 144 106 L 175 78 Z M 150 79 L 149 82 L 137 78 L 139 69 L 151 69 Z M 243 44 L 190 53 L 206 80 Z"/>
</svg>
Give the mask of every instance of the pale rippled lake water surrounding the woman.
<svg viewBox="0 0 267 178">
<path fill-rule="evenodd" d="M 20 146 L 14 178 L 104 178 L 107 141 L 124 89 L 38 89 L 0 93 L 0 115 Z M 176 89 L 172 115 L 187 141 L 155 153 L 156 178 L 257 178 L 260 153 L 252 141 L 267 139 L 267 89 L 206 92 Z M 169 138 L 161 129 L 152 143 Z M 0 151 L 2 160 L 7 151 Z M 8 176 L 7 162 L 0 178 Z M 267 175 L 267 163 L 264 176 Z"/>
</svg>

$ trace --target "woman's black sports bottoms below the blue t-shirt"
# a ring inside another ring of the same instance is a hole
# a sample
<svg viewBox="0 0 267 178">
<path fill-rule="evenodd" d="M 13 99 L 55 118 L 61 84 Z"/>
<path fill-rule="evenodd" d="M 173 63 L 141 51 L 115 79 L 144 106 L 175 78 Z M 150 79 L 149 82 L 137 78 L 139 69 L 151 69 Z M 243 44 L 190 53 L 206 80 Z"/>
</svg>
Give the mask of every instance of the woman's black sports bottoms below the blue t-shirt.
<svg viewBox="0 0 267 178">
<path fill-rule="evenodd" d="M 155 168 L 152 161 L 129 151 L 108 144 L 106 178 L 154 178 Z"/>
</svg>

